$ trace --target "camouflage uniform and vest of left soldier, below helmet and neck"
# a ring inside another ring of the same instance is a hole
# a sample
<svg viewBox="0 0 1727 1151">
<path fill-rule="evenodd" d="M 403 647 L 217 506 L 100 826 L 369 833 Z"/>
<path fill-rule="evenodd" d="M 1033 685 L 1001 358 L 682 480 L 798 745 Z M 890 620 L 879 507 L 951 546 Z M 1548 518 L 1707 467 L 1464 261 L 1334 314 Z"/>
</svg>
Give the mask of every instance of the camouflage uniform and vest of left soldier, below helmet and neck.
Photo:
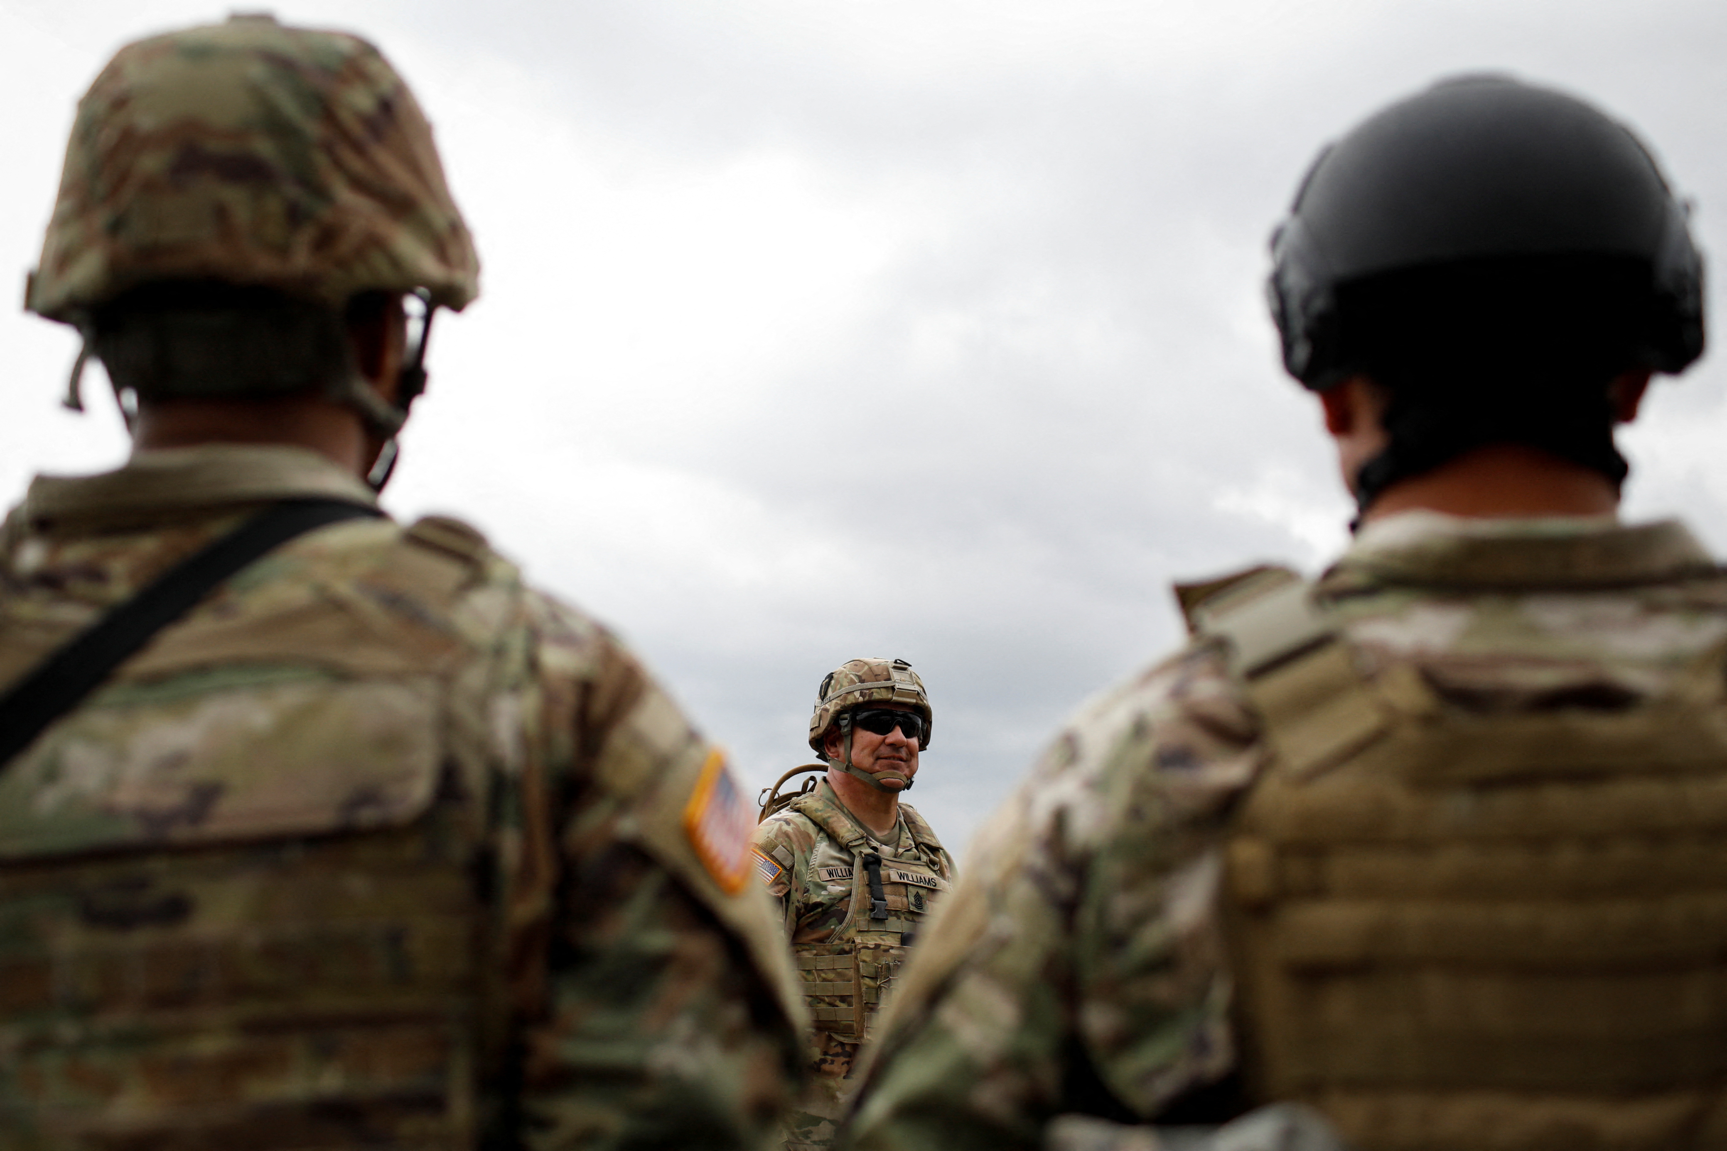
<svg viewBox="0 0 1727 1151">
<path fill-rule="evenodd" d="M 0 682 L 295 495 L 368 499 L 271 447 L 38 478 Z M 302 537 L 0 775 L 0 1142 L 760 1146 L 798 1008 L 748 818 L 473 528 Z"/>
</svg>

